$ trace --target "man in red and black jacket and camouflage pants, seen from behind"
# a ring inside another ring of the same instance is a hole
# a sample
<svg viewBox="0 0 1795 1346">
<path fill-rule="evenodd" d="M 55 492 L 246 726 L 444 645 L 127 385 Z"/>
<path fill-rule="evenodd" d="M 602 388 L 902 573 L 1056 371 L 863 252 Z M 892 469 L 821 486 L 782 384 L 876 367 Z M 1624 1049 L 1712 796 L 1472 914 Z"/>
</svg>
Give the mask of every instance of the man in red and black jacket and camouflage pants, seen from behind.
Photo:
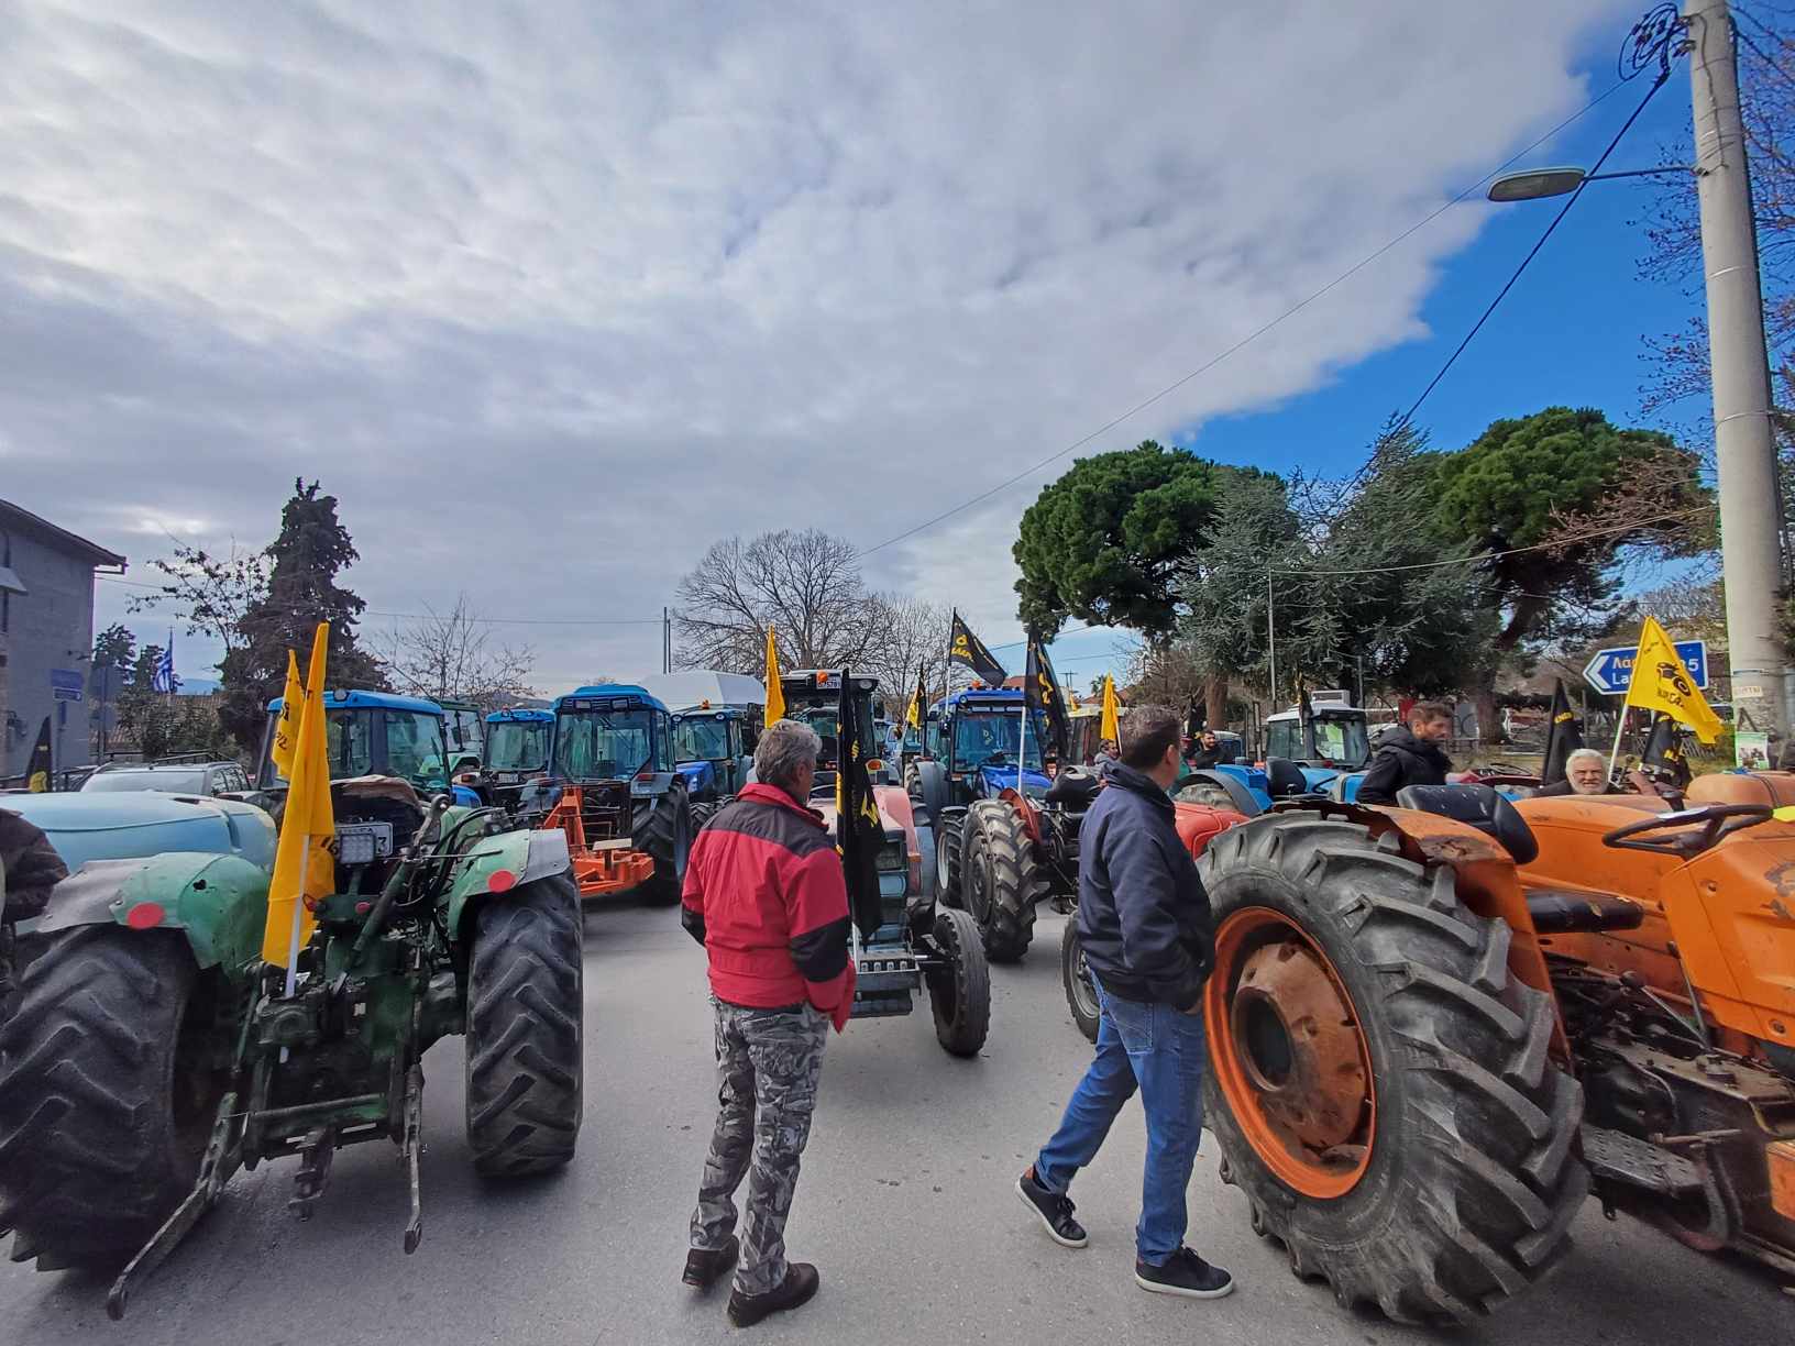
<svg viewBox="0 0 1795 1346">
<path fill-rule="evenodd" d="M 686 1283 L 705 1289 L 736 1265 L 729 1319 L 759 1323 L 817 1294 L 817 1269 L 786 1262 L 784 1222 L 822 1075 L 829 1025 L 847 1025 L 847 885 L 822 815 L 804 804 L 817 734 L 779 720 L 754 748 L 756 782 L 698 833 L 680 921 L 711 962 L 716 1131 L 691 1217 Z M 756 1145 L 756 1111 L 761 1136 Z M 749 1179 L 743 1237 L 736 1188 Z"/>
</svg>

